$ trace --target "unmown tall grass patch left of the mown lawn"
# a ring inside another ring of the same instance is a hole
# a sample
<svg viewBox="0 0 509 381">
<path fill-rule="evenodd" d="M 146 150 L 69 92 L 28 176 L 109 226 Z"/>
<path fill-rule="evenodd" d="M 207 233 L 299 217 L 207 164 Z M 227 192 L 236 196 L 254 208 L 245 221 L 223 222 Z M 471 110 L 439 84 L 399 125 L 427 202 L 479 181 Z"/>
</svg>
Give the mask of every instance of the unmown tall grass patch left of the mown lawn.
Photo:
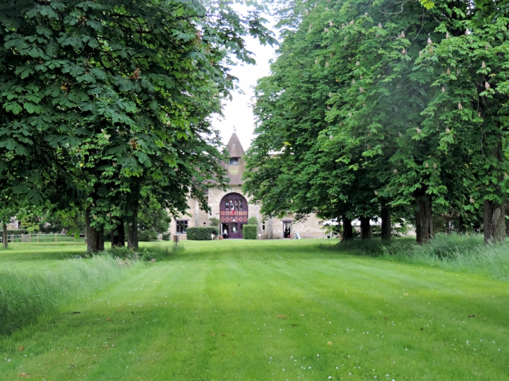
<svg viewBox="0 0 509 381">
<path fill-rule="evenodd" d="M 109 254 L 61 261 L 56 270 L 22 273 L 0 270 L 0 335 L 36 322 L 62 306 L 126 277 L 126 269 L 139 263 Z"/>
</svg>

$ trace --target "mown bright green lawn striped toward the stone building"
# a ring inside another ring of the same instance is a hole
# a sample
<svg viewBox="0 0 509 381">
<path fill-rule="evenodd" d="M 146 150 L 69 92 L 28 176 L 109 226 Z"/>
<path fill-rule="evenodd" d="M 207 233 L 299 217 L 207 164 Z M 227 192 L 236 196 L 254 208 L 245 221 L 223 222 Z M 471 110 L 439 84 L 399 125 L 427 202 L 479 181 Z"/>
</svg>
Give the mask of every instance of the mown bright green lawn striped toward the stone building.
<svg viewBox="0 0 509 381">
<path fill-rule="evenodd" d="M 0 380 L 509 380 L 509 283 L 319 242 L 183 242 L 0 338 Z M 0 267 L 83 251 L 13 244 Z"/>
</svg>

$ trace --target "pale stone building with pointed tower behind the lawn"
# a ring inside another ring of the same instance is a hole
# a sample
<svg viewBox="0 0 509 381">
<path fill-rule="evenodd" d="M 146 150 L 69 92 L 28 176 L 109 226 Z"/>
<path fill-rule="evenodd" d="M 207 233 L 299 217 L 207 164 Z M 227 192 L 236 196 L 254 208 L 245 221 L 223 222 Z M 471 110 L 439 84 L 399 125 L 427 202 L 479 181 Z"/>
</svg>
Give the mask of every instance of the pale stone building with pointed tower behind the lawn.
<svg viewBox="0 0 509 381">
<path fill-rule="evenodd" d="M 259 222 L 261 239 L 273 238 L 324 238 L 323 221 L 315 215 L 309 215 L 305 221 L 294 222 L 294 216 L 289 212 L 282 219 L 265 219 L 260 215 L 260 205 L 250 203 L 250 199 L 243 195 L 242 175 L 245 168 L 245 152 L 234 132 L 227 144 L 229 162 L 225 162 L 229 177 L 227 192 L 213 187 L 208 189 L 207 202 L 211 212 L 199 208 L 196 199 L 188 199 L 186 215 L 174 217 L 170 224 L 172 235 L 179 235 L 185 240 L 185 231 L 190 226 L 209 226 L 210 218 L 220 220 L 220 232 L 225 238 L 243 238 L 244 224 L 248 224 L 250 217 L 256 217 Z"/>
</svg>

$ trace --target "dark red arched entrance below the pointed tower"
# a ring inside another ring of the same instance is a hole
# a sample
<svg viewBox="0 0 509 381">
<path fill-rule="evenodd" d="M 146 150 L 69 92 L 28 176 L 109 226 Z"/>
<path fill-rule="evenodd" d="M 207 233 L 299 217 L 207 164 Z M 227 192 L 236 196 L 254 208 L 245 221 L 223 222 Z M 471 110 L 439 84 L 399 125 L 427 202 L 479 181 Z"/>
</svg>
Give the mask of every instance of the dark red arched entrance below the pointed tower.
<svg viewBox="0 0 509 381">
<path fill-rule="evenodd" d="M 243 238 L 242 226 L 248 224 L 248 201 L 238 193 L 229 193 L 220 204 L 221 235 L 223 238 Z"/>
</svg>

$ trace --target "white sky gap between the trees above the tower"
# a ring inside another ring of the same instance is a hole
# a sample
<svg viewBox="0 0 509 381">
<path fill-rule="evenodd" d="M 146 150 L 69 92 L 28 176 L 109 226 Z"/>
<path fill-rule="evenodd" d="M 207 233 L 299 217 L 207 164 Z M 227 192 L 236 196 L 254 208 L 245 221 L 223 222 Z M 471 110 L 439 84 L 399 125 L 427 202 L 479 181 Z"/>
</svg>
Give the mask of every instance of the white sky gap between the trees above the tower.
<svg viewBox="0 0 509 381">
<path fill-rule="evenodd" d="M 266 24 L 268 25 L 268 24 Z M 254 96 L 253 87 L 257 79 L 268 75 L 270 65 L 268 61 L 275 58 L 275 47 L 271 45 L 260 45 L 257 40 L 251 37 L 245 38 L 246 47 L 254 53 L 256 65 L 237 65 L 231 70 L 231 75 L 238 78 L 238 86 L 243 95 L 233 93 L 233 100 L 226 100 L 223 108 L 224 118 L 213 120 L 213 126 L 220 130 L 223 143 L 228 143 L 231 134 L 236 127 L 238 139 L 240 139 L 244 150 L 248 150 L 251 140 L 254 138 L 254 117 L 250 103 Z"/>
</svg>

